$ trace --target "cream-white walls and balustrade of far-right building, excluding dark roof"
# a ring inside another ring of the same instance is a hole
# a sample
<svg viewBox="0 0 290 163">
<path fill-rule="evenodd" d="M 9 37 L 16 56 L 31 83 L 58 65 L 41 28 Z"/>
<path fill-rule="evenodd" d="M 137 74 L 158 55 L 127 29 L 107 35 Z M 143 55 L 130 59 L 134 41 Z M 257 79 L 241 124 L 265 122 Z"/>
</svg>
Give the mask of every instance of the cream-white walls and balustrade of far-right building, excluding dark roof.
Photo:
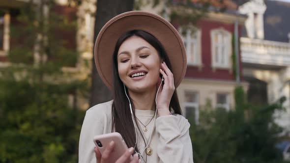
<svg viewBox="0 0 290 163">
<path fill-rule="evenodd" d="M 285 110 L 277 111 L 275 120 L 290 131 L 290 44 L 263 40 L 265 10 L 263 0 L 250 0 L 239 7 L 240 13 L 248 15 L 245 22 L 248 37 L 240 40 L 242 62 L 256 65 L 244 66 L 244 76 L 267 82 L 268 103 L 286 97 Z"/>
</svg>

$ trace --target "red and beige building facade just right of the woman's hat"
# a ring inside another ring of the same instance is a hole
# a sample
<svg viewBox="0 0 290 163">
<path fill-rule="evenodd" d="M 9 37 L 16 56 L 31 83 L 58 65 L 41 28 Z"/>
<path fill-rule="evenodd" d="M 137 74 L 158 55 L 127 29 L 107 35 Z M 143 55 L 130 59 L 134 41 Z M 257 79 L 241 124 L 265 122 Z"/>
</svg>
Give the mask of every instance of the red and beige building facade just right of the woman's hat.
<svg viewBox="0 0 290 163">
<path fill-rule="evenodd" d="M 174 0 L 176 1 L 178 0 Z M 246 16 L 239 14 L 237 5 L 227 0 L 226 12 L 210 11 L 197 23 L 180 22 L 178 18 L 170 20 L 168 15 L 172 12 L 172 6 L 168 7 L 166 3 L 154 6 L 152 3 L 153 1 L 151 4 L 147 3 L 141 10 L 160 14 L 168 19 L 181 34 L 187 51 L 185 78 L 177 88 L 185 117 L 194 118 L 198 124 L 200 110 L 205 106 L 211 106 L 212 109 L 234 109 L 234 89 L 238 85 L 235 71 L 239 71 L 240 74 L 239 84 L 247 90 L 247 83 L 241 74 L 239 46 L 236 55 L 238 59 L 233 56 L 235 26 L 239 38 Z M 236 68 L 234 63 L 236 60 L 239 62 L 239 68 Z"/>
</svg>

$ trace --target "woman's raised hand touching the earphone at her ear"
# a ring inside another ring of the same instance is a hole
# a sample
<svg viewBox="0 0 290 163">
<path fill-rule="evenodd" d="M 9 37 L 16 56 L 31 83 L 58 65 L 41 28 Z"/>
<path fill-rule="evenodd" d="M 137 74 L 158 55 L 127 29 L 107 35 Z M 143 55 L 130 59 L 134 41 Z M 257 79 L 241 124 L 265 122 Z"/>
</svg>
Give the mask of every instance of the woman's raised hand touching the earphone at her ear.
<svg viewBox="0 0 290 163">
<path fill-rule="evenodd" d="M 164 71 L 163 71 L 164 70 Z M 166 63 L 161 63 L 160 74 L 163 75 L 164 84 L 160 86 L 157 95 L 157 112 L 159 116 L 169 115 L 169 105 L 172 95 L 175 90 L 174 86 L 174 76 L 170 69 L 167 67 Z M 157 83 L 157 89 L 161 83 L 161 80 Z"/>
</svg>

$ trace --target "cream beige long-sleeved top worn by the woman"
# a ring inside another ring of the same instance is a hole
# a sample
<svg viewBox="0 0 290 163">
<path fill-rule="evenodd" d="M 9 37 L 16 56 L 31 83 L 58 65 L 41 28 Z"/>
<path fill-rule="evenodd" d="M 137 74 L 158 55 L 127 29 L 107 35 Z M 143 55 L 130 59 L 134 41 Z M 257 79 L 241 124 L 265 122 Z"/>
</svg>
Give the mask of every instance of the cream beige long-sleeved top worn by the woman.
<svg viewBox="0 0 290 163">
<path fill-rule="evenodd" d="M 98 104 L 87 110 L 83 122 L 79 144 L 79 163 L 96 163 L 94 154 L 93 137 L 101 134 L 108 134 L 112 131 L 112 103 L 113 101 Z M 135 109 L 137 118 L 146 125 L 155 111 Z M 143 125 L 138 121 L 138 125 L 143 129 Z M 145 141 L 149 140 L 153 127 L 153 120 L 146 126 L 147 132 L 143 132 Z M 174 114 L 157 117 L 155 128 L 149 147 L 153 154 L 146 156 L 147 163 L 193 163 L 192 145 L 189 136 L 187 119 L 182 115 Z M 135 134 L 132 131 L 132 134 Z M 141 133 L 138 133 L 141 134 Z M 139 136 L 138 148 L 140 152 L 145 148 L 143 139 Z"/>
</svg>

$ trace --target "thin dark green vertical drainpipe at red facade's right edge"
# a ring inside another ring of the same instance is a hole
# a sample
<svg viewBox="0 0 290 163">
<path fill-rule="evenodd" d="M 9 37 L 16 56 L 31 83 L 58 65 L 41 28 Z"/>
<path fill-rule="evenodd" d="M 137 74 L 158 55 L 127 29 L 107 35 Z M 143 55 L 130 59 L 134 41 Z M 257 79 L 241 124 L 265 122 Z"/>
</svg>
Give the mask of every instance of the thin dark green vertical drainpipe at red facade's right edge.
<svg viewBox="0 0 290 163">
<path fill-rule="evenodd" d="M 234 22 L 234 51 L 235 51 L 235 68 L 236 68 L 236 73 L 235 73 L 235 79 L 236 83 L 239 85 L 240 84 L 240 63 L 239 63 L 239 49 L 238 49 L 238 20 L 236 18 Z"/>
</svg>

